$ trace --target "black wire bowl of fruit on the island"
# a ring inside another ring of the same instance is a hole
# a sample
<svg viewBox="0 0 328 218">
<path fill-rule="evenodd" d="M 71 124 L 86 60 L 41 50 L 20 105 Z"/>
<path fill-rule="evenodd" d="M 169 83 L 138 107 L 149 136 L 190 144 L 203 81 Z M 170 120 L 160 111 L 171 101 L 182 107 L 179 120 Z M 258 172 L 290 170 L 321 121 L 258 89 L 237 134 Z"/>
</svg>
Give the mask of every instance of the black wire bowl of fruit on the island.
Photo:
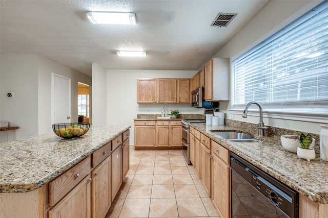
<svg viewBox="0 0 328 218">
<path fill-rule="evenodd" d="M 62 138 L 75 138 L 88 132 L 90 123 L 53 124 L 52 130 Z"/>
</svg>

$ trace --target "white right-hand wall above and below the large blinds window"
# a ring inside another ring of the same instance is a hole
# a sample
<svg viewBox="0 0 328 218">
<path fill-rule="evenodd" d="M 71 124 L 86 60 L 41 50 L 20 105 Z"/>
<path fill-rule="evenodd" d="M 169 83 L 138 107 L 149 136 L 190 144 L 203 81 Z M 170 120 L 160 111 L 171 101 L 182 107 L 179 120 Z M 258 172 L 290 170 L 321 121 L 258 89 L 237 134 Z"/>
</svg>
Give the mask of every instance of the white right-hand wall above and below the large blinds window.
<svg viewBox="0 0 328 218">
<path fill-rule="evenodd" d="M 245 25 L 222 49 L 214 56 L 221 58 L 237 58 L 253 46 L 276 33 L 304 13 L 319 5 L 322 1 L 270 1 L 247 25 Z M 228 118 L 243 122 L 258 123 L 258 116 L 249 115 L 242 118 L 232 115 L 230 102 L 220 103 L 220 109 L 225 110 Z M 265 110 L 265 108 L 263 108 Z M 320 126 L 315 122 L 301 122 L 278 118 L 263 117 L 265 125 L 293 129 L 298 131 L 319 133 Z"/>
</svg>

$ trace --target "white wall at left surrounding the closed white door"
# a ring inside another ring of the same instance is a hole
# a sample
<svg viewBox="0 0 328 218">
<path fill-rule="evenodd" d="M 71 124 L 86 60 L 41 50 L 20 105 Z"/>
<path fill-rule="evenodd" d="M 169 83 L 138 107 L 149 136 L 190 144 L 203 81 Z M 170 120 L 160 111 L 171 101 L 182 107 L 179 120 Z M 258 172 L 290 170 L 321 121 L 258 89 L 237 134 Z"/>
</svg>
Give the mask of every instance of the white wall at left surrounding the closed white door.
<svg viewBox="0 0 328 218">
<path fill-rule="evenodd" d="M 52 72 L 72 79 L 71 120 L 77 122 L 77 82 L 91 85 L 90 76 L 37 54 L 1 54 L 0 117 L 10 126 L 19 127 L 15 130 L 16 139 L 52 131 Z M 9 91 L 14 92 L 14 98 L 6 97 Z M 2 132 L 0 141 L 4 141 L 7 132 Z"/>
</svg>

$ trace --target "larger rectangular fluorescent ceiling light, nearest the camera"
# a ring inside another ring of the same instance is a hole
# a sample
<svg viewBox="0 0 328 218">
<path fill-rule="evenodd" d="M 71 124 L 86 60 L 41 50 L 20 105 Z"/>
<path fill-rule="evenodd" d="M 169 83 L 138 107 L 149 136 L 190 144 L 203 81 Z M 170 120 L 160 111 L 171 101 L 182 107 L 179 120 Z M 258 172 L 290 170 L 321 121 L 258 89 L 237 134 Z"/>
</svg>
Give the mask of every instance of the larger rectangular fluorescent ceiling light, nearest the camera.
<svg viewBox="0 0 328 218">
<path fill-rule="evenodd" d="M 97 24 L 137 24 L 135 13 L 125 12 L 87 12 L 92 23 Z"/>
</svg>

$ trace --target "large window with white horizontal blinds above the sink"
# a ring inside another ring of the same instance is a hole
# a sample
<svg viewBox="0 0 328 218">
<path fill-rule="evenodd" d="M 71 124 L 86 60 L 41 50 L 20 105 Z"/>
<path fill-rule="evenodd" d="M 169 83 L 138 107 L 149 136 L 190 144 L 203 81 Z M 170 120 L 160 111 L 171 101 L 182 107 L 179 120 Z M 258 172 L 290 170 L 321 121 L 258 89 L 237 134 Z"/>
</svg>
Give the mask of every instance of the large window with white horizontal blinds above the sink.
<svg viewBox="0 0 328 218">
<path fill-rule="evenodd" d="M 231 62 L 232 106 L 328 106 L 328 2 Z"/>
</svg>

